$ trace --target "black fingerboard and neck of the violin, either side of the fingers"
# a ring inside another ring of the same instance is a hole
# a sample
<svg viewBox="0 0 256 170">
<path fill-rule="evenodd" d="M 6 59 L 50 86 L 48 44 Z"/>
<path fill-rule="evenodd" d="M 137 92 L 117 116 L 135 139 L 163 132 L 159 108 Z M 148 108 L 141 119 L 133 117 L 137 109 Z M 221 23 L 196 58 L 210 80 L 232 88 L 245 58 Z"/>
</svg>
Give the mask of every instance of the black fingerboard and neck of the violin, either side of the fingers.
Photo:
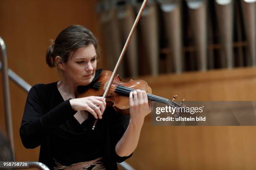
<svg viewBox="0 0 256 170">
<path fill-rule="evenodd" d="M 117 85 L 115 87 L 115 93 L 118 93 L 118 94 L 121 94 L 121 95 L 126 95 L 126 96 L 129 96 L 130 92 L 131 91 L 134 91 L 136 89 L 133 89 L 133 88 L 130 88 L 130 87 L 125 87 L 123 85 Z M 154 102 L 159 102 L 159 103 L 163 103 L 163 104 L 166 104 L 166 105 L 170 105 L 172 107 L 180 107 L 177 103 L 169 100 L 169 99 L 166 99 L 164 97 L 159 97 L 157 95 L 152 95 L 152 94 L 149 94 L 147 93 L 147 97 L 148 97 L 148 100 L 151 100 L 151 101 L 154 101 Z"/>
</svg>

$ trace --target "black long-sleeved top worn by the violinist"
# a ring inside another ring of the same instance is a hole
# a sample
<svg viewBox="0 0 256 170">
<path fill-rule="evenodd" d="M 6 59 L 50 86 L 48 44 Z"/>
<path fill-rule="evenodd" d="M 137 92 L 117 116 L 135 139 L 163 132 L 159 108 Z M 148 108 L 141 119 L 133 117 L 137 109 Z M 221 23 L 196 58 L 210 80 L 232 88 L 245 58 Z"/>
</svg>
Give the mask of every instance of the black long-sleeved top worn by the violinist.
<svg viewBox="0 0 256 170">
<path fill-rule="evenodd" d="M 96 71 L 90 85 L 100 73 L 101 70 Z M 105 167 L 116 170 L 116 162 L 132 155 L 120 157 L 115 153 L 115 145 L 128 126 L 129 116 L 107 107 L 92 130 L 94 117 L 89 114 L 80 125 L 74 117 L 77 111 L 72 109 L 69 100 L 63 100 L 57 82 L 31 87 L 20 126 L 23 145 L 30 149 L 41 145 L 39 162 L 50 169 L 56 166 L 54 159 L 67 166 L 103 157 Z"/>
</svg>

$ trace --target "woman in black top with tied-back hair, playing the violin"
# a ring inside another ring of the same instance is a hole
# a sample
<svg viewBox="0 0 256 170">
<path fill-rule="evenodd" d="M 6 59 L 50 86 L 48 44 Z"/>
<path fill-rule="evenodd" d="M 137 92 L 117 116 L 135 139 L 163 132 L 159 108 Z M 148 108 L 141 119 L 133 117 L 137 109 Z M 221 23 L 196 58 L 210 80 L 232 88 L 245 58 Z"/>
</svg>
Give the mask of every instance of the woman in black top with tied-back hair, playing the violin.
<svg viewBox="0 0 256 170">
<path fill-rule="evenodd" d="M 117 169 L 116 162 L 131 157 L 151 111 L 142 90 L 130 92 L 130 116 L 106 107 L 103 97 L 77 98 L 79 86 L 89 88 L 100 76 L 98 49 L 87 28 L 62 30 L 46 52 L 47 64 L 59 70 L 61 79 L 34 85 L 28 93 L 20 138 L 26 148 L 40 145 L 39 162 L 51 169 Z"/>
</svg>

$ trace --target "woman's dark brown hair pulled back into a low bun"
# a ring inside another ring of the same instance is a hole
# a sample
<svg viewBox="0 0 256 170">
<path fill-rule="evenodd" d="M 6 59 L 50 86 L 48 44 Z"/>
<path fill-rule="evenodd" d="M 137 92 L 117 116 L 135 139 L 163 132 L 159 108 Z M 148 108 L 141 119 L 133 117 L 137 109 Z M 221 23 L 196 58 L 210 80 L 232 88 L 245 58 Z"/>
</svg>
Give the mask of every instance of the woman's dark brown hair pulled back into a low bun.
<svg viewBox="0 0 256 170">
<path fill-rule="evenodd" d="M 46 52 L 46 63 L 49 67 L 55 67 L 56 56 L 61 57 L 61 61 L 67 63 L 71 52 L 75 52 L 80 47 L 87 47 L 92 44 L 96 52 L 99 52 L 98 42 L 92 32 L 82 25 L 71 25 L 62 30 L 55 41 Z"/>
</svg>

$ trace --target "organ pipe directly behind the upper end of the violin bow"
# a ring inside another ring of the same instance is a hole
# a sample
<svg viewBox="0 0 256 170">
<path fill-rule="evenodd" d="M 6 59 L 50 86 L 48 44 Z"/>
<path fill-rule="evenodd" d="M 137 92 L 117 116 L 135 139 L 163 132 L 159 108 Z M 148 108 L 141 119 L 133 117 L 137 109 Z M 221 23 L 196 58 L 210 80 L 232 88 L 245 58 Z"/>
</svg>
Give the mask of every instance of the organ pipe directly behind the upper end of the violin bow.
<svg viewBox="0 0 256 170">
<path fill-rule="evenodd" d="M 141 7 L 141 0 L 132 0 L 136 13 Z M 141 15 L 139 28 L 140 48 L 143 49 L 139 58 L 140 74 L 159 74 L 159 28 L 158 8 L 155 0 L 148 0 L 148 3 Z M 142 64 L 143 63 L 143 64 Z"/>
</svg>

